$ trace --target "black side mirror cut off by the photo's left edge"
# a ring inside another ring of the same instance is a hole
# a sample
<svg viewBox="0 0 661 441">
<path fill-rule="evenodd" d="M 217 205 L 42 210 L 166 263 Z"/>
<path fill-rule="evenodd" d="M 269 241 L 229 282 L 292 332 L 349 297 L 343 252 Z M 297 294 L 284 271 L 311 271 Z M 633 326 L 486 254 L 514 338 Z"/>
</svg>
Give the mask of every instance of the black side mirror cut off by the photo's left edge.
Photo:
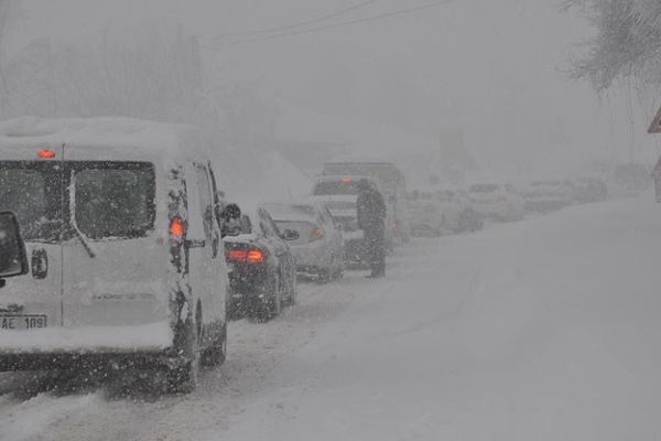
<svg viewBox="0 0 661 441">
<path fill-rule="evenodd" d="M 4 278 L 26 275 L 30 271 L 25 245 L 19 222 L 13 213 L 0 213 L 0 288 Z"/>
</svg>

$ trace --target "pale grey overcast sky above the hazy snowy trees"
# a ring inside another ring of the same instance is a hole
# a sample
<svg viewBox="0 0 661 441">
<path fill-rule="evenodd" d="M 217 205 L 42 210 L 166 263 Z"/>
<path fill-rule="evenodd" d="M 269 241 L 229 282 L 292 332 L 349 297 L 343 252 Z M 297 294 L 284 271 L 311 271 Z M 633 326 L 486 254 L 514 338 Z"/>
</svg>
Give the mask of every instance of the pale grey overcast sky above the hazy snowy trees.
<svg viewBox="0 0 661 441">
<path fill-rule="evenodd" d="M 577 43 L 592 29 L 575 13 L 560 12 L 559 1 L 456 0 L 379 21 L 234 44 L 261 35 L 241 33 L 355 4 L 368 3 L 310 28 L 430 2 L 23 0 L 10 42 L 15 50 L 35 36 L 89 41 L 104 26 L 182 23 L 204 47 L 209 87 L 241 84 L 277 107 L 295 105 L 429 136 L 462 127 L 483 166 L 554 171 L 588 159 L 654 157 L 657 141 L 644 135 L 649 116 L 636 103 L 629 106 L 626 88 L 599 99 L 587 84 L 567 79 L 568 60 L 581 53 Z"/>
</svg>

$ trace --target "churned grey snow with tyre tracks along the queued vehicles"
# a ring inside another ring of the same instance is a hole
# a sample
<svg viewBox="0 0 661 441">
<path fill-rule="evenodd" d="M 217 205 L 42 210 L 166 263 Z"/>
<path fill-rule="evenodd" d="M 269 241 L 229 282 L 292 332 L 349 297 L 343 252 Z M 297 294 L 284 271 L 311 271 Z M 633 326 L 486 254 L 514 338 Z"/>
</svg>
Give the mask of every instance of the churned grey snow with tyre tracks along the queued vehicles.
<svg viewBox="0 0 661 441">
<path fill-rule="evenodd" d="M 269 387 L 289 353 L 314 338 L 316 330 L 356 298 L 362 272 L 318 284 L 299 286 L 299 303 L 268 323 L 230 323 L 224 366 L 203 372 L 196 391 L 183 396 L 115 398 L 99 390 L 85 396 L 40 394 L 20 401 L 23 374 L 0 378 L 0 441 L 191 440 L 193 431 L 223 431 L 228 418 Z M 7 384 L 7 388 L 3 385 Z"/>
</svg>

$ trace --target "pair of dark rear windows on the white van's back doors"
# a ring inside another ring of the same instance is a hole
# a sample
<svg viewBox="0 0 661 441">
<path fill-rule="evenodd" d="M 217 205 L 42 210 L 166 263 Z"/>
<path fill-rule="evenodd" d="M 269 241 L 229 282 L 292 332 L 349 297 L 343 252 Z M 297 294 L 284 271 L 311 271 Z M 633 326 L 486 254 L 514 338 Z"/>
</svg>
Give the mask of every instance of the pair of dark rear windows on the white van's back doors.
<svg viewBox="0 0 661 441">
<path fill-rule="evenodd" d="M 149 162 L 0 161 L 0 208 L 17 215 L 29 241 L 74 237 L 72 217 L 90 239 L 143 237 L 154 228 L 154 197 Z"/>
</svg>

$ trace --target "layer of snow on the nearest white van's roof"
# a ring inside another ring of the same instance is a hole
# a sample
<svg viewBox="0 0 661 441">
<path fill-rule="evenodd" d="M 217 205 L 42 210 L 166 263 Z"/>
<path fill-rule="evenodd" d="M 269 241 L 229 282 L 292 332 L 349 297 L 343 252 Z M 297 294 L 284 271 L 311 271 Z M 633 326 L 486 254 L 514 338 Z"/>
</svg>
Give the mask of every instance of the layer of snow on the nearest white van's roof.
<svg viewBox="0 0 661 441">
<path fill-rule="evenodd" d="M 198 154 L 193 126 L 155 122 L 124 117 L 44 119 L 21 117 L 0 122 L 0 149 L 65 144 L 69 149 L 120 150 L 130 155 Z"/>
</svg>

